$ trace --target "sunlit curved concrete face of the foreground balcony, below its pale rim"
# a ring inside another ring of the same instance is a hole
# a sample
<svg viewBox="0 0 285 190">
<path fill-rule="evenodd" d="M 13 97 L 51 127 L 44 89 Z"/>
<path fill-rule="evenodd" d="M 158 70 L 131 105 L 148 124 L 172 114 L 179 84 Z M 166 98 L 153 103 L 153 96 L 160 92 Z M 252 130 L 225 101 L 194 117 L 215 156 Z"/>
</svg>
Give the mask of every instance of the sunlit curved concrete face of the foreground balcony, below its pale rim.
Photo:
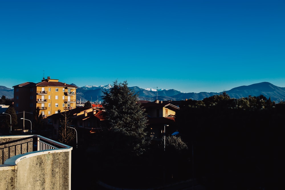
<svg viewBox="0 0 285 190">
<path fill-rule="evenodd" d="M 59 152 L 21 160 L 16 189 L 70 189 L 69 156 L 69 152 Z"/>
</svg>

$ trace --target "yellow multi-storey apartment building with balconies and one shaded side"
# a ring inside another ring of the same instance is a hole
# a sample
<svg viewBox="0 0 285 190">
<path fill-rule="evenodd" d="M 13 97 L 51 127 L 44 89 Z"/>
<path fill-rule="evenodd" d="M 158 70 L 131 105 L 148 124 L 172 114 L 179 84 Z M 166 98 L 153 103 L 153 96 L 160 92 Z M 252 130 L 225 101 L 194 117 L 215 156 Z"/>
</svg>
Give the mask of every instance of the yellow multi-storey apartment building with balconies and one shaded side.
<svg viewBox="0 0 285 190">
<path fill-rule="evenodd" d="M 44 117 L 76 107 L 74 85 L 59 82 L 58 79 L 42 79 L 39 83 L 25 82 L 14 88 L 16 113 L 33 113 L 36 107 Z"/>
</svg>

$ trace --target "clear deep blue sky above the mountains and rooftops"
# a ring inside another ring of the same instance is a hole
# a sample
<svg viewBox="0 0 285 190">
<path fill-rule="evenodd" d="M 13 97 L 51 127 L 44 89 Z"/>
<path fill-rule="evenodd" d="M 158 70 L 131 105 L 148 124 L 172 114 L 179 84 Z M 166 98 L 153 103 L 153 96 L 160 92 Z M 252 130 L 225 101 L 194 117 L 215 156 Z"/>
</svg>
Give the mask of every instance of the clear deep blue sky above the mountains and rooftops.
<svg viewBox="0 0 285 190">
<path fill-rule="evenodd" d="M 285 87 L 284 10 L 284 0 L 0 0 L 0 85 Z"/>
</svg>

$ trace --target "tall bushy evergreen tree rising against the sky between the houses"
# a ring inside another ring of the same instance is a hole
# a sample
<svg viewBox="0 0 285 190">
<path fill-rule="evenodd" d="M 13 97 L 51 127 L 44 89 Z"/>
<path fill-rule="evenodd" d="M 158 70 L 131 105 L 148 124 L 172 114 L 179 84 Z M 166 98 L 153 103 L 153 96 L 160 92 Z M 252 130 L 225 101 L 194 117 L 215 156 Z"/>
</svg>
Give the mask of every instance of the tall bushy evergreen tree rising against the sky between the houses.
<svg viewBox="0 0 285 190">
<path fill-rule="evenodd" d="M 109 91 L 103 92 L 105 119 L 109 124 L 109 134 L 113 135 L 109 143 L 115 151 L 121 149 L 140 155 L 150 142 L 145 132 L 147 117 L 137 103 L 138 95 L 127 85 L 127 81 L 118 83 L 116 80 Z"/>
</svg>

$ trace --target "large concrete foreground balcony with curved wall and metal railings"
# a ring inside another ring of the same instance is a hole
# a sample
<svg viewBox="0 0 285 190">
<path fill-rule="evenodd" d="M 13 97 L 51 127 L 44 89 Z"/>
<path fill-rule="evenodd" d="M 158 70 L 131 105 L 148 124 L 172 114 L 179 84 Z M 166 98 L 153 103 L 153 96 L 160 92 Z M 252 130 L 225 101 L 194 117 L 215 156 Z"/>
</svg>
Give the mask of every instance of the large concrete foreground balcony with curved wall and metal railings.
<svg viewBox="0 0 285 190">
<path fill-rule="evenodd" d="M 71 151 L 40 135 L 0 136 L 0 189 L 70 190 Z"/>
</svg>

